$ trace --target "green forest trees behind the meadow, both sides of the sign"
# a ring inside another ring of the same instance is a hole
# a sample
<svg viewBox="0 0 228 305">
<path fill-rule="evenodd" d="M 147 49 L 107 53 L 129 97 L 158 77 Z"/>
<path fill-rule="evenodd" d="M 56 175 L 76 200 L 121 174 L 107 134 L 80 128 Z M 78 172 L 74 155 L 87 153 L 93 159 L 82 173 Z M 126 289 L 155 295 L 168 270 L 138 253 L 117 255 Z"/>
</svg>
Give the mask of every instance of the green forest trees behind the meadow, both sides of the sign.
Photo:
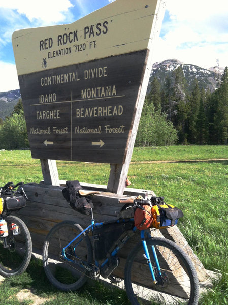
<svg viewBox="0 0 228 305">
<path fill-rule="evenodd" d="M 161 86 L 155 77 L 148 88 L 135 146 L 174 144 L 227 144 L 228 68 L 214 92 L 199 87 L 191 92 L 179 66 Z M 0 120 L 0 149 L 29 148 L 21 100 L 4 121 Z"/>
</svg>

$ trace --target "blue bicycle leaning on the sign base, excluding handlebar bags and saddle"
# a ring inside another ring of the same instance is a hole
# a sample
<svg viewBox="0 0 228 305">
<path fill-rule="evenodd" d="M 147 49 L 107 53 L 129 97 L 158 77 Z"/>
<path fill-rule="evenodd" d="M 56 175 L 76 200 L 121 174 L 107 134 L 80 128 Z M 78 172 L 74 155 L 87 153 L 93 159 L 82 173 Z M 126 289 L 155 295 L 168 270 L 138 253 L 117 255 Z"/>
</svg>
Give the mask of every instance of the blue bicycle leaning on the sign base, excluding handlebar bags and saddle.
<svg viewBox="0 0 228 305">
<path fill-rule="evenodd" d="M 64 291 L 79 289 L 88 278 L 109 279 L 120 285 L 117 253 L 136 231 L 134 218 L 96 223 L 92 208 L 91 224 L 86 229 L 74 221 L 56 224 L 43 247 L 47 278 Z M 111 246 L 114 237 L 117 241 Z M 151 237 L 149 230 L 142 230 L 140 239 L 128 254 L 124 269 L 131 303 L 197 305 L 199 281 L 187 254 L 168 239 Z"/>
</svg>

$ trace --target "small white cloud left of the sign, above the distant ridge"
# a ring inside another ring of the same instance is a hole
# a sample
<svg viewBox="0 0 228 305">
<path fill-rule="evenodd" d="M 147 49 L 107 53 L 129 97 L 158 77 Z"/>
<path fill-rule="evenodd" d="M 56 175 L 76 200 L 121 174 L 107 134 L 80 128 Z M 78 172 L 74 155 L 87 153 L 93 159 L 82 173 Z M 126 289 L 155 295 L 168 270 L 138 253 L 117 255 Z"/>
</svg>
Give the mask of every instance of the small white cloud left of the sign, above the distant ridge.
<svg viewBox="0 0 228 305">
<path fill-rule="evenodd" d="M 19 89 L 17 70 L 14 64 L 9 64 L 0 61 L 0 71 L 0 92 Z"/>
</svg>

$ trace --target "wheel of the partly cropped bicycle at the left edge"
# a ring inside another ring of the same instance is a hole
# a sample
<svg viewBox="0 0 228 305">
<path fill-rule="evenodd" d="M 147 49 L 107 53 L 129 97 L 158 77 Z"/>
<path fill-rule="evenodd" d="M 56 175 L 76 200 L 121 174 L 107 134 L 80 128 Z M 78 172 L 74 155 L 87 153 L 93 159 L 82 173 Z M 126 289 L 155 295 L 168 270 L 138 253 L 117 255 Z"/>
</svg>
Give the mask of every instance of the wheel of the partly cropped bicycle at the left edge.
<svg viewBox="0 0 228 305">
<path fill-rule="evenodd" d="M 32 241 L 25 223 L 18 217 L 9 215 L 5 218 L 9 235 L 5 237 L 8 248 L 4 248 L 4 237 L 0 238 L 0 275 L 10 277 L 23 273 L 31 259 Z M 11 223 L 19 228 L 14 235 Z"/>
</svg>

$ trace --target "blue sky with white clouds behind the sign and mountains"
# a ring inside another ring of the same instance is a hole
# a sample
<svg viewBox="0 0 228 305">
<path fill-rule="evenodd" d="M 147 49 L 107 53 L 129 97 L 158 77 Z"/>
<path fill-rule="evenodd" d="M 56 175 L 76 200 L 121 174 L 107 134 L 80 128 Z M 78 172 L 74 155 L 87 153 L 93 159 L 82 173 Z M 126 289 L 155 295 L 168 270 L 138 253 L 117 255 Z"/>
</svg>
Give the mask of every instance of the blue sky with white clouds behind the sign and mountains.
<svg viewBox="0 0 228 305">
<path fill-rule="evenodd" d="M 11 42 L 16 29 L 72 23 L 112 1 L 0 0 L 0 92 L 19 88 Z M 227 0 L 166 3 L 154 62 L 176 58 L 209 68 L 219 60 L 221 67 L 228 66 Z"/>
</svg>

